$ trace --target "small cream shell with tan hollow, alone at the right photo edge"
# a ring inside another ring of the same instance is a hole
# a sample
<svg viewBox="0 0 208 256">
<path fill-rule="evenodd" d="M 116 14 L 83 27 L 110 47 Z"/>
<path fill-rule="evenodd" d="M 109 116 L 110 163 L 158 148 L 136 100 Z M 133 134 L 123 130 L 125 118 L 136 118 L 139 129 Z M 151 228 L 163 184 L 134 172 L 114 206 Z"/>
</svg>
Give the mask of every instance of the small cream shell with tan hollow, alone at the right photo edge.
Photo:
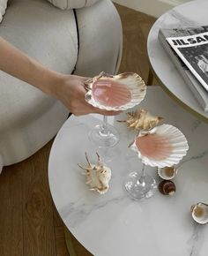
<svg viewBox="0 0 208 256">
<path fill-rule="evenodd" d="M 197 203 L 193 205 L 191 208 L 191 215 L 195 222 L 199 224 L 207 224 L 208 223 L 208 205 L 204 203 Z"/>
</svg>

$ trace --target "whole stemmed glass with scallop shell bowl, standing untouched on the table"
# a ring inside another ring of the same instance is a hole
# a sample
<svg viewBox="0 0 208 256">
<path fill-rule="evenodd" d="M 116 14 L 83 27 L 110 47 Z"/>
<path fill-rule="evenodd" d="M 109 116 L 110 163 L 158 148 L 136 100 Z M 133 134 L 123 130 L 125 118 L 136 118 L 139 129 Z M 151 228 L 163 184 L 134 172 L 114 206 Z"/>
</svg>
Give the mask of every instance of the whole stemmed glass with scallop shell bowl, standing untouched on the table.
<svg viewBox="0 0 208 256">
<path fill-rule="evenodd" d="M 146 175 L 146 167 L 163 168 L 181 161 L 189 149 L 187 139 L 175 126 L 162 124 L 152 130 L 139 132 L 130 149 L 137 152 L 143 162 L 141 174 L 131 172 L 124 182 L 130 197 L 139 200 L 150 198 L 157 187 L 153 177 Z"/>
</svg>

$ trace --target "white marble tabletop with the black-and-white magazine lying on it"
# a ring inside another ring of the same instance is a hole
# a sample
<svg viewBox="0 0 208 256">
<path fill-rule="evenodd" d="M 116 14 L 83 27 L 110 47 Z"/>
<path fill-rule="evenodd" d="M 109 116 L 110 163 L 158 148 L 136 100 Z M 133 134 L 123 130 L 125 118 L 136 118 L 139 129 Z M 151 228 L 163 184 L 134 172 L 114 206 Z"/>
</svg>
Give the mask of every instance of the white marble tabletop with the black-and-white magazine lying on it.
<svg viewBox="0 0 208 256">
<path fill-rule="evenodd" d="M 149 61 L 161 83 L 170 94 L 174 95 L 191 111 L 200 115 L 206 123 L 208 123 L 208 112 L 204 112 L 200 107 L 182 76 L 176 70 L 175 65 L 167 56 L 166 51 L 158 41 L 158 32 L 160 28 L 205 26 L 208 24 L 207 10 L 207 0 L 195 0 L 167 11 L 154 23 L 147 41 Z"/>
</svg>

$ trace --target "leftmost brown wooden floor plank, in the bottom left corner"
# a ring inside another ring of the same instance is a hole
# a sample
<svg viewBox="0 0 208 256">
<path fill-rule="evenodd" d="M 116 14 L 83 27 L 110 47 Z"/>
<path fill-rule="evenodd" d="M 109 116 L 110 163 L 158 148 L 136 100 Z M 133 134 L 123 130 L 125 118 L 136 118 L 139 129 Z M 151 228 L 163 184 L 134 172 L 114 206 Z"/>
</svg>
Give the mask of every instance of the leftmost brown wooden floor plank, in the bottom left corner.
<svg viewBox="0 0 208 256">
<path fill-rule="evenodd" d="M 0 176 L 0 255 L 23 256 L 22 172 L 19 164 Z"/>
</svg>

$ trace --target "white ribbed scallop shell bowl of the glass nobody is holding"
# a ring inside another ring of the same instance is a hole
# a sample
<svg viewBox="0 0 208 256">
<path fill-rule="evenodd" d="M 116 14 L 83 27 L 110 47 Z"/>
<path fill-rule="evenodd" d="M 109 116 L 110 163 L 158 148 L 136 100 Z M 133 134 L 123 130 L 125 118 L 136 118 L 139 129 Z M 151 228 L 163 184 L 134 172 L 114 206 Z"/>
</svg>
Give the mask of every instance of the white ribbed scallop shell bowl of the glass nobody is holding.
<svg viewBox="0 0 208 256">
<path fill-rule="evenodd" d="M 130 145 L 146 165 L 170 167 L 181 161 L 189 149 L 187 139 L 173 125 L 162 124 L 152 130 L 139 132 Z"/>
</svg>

